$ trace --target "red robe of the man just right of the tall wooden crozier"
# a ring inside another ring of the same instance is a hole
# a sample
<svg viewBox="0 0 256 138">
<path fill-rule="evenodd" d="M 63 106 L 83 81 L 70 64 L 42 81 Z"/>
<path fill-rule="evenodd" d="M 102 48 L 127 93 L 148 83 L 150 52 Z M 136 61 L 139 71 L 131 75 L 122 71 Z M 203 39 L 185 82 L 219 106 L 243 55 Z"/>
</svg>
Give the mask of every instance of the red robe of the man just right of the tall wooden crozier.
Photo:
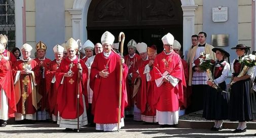
<svg viewBox="0 0 256 138">
<path fill-rule="evenodd" d="M 137 61 L 141 59 L 138 54 L 135 53 L 133 58 L 129 57 L 129 54 L 124 57 L 125 64 L 128 66 L 128 75 L 130 73 L 133 73 L 134 71 L 138 70 L 137 67 Z M 128 78 L 126 80 L 126 88 L 127 88 L 127 98 L 128 98 L 128 107 L 133 107 L 133 86 L 134 86 L 134 79 L 131 81 L 128 81 Z"/>
</svg>

